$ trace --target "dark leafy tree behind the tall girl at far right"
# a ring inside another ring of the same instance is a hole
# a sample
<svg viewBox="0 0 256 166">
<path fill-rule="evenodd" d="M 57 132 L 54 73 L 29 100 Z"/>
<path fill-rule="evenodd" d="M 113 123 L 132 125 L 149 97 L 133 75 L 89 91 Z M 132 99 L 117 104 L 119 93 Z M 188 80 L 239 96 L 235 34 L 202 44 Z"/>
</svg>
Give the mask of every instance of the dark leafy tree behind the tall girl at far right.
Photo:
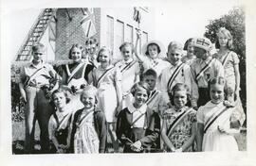
<svg viewBox="0 0 256 166">
<path fill-rule="evenodd" d="M 245 9 L 243 7 L 232 8 L 228 14 L 223 15 L 216 20 L 210 20 L 210 24 L 206 26 L 205 37 L 211 42 L 216 42 L 216 32 L 220 27 L 226 27 L 232 37 L 235 53 L 238 54 L 240 63 L 239 70 L 241 75 L 241 100 L 246 109 L 247 91 L 246 91 L 246 24 L 245 24 Z"/>
</svg>

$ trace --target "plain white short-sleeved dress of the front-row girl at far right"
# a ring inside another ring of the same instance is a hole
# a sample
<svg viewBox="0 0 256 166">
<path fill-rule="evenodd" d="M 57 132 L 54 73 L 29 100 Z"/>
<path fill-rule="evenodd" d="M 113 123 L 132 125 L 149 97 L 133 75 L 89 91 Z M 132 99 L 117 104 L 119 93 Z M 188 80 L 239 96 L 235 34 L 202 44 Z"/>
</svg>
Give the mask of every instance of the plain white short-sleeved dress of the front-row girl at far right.
<svg viewBox="0 0 256 166">
<path fill-rule="evenodd" d="M 204 124 L 212 117 L 215 117 L 219 112 L 226 108 L 223 103 L 213 104 L 208 102 L 205 106 L 200 107 L 197 112 L 197 122 Z M 204 133 L 202 151 L 217 151 L 217 152 L 234 152 L 238 151 L 238 145 L 234 137 L 218 130 L 218 125 L 229 128 L 229 118 L 234 108 L 228 108 L 222 113 Z"/>
</svg>

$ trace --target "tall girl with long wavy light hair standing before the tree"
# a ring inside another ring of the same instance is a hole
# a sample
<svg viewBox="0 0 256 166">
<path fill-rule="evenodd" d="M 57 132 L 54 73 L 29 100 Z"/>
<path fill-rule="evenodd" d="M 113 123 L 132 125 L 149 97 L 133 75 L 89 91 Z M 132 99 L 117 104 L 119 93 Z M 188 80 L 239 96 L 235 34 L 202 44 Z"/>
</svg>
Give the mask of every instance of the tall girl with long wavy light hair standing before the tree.
<svg viewBox="0 0 256 166">
<path fill-rule="evenodd" d="M 232 50 L 232 36 L 225 27 L 219 28 L 217 32 L 217 41 L 215 47 L 219 50 L 214 54 L 214 58 L 220 60 L 224 66 L 224 75 L 226 78 L 226 86 L 229 87 L 234 93 L 231 95 L 230 100 L 239 98 L 240 90 L 240 73 L 239 73 L 239 58 Z"/>
</svg>

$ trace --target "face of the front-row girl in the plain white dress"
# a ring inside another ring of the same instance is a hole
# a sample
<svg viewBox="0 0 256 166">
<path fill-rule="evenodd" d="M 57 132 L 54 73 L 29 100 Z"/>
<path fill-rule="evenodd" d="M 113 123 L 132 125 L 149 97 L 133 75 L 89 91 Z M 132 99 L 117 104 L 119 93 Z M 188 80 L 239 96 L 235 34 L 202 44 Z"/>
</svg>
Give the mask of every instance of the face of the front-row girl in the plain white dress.
<svg viewBox="0 0 256 166">
<path fill-rule="evenodd" d="M 210 85 L 210 99 L 214 104 L 218 104 L 224 100 L 224 85 Z"/>
</svg>

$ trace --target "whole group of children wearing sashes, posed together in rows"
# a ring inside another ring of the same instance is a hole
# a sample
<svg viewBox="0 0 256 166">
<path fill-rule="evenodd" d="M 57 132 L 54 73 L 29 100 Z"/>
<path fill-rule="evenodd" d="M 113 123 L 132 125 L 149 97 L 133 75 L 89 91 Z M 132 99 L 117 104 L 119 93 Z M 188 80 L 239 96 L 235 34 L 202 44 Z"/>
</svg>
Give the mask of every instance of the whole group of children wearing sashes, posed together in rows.
<svg viewBox="0 0 256 166">
<path fill-rule="evenodd" d="M 41 67 L 46 66 L 42 60 L 35 61 L 45 48 L 34 46 L 28 66 L 34 72 L 25 67 L 28 83 L 20 84 L 28 107 L 26 127 L 34 123 L 30 119 L 41 122 L 31 111 L 42 112 L 37 110 L 42 102 L 37 95 L 43 92 L 52 96 L 46 100 L 54 110 L 45 118 L 49 130 L 45 137 L 52 140 L 56 153 L 106 153 L 108 136 L 116 153 L 120 149 L 123 153 L 237 151 L 232 135 L 239 133 L 245 120 L 238 107 L 239 59 L 231 51 L 229 30 L 220 28 L 217 36 L 214 55 L 210 55 L 209 39 L 193 38 L 184 48 L 170 42 L 165 58 L 155 41 L 145 44 L 140 55 L 138 31 L 135 48 L 122 43 L 122 59 L 116 63 L 107 47 L 86 57 L 82 45 L 74 44 L 69 52 L 73 63 L 56 72 Z M 42 87 L 51 82 L 54 86 L 44 91 Z M 29 89 L 35 92 L 27 100 Z M 38 104 L 31 106 L 32 102 Z M 40 125 L 41 132 L 46 125 Z M 33 134 L 26 131 L 26 142 L 32 144 Z"/>
</svg>

